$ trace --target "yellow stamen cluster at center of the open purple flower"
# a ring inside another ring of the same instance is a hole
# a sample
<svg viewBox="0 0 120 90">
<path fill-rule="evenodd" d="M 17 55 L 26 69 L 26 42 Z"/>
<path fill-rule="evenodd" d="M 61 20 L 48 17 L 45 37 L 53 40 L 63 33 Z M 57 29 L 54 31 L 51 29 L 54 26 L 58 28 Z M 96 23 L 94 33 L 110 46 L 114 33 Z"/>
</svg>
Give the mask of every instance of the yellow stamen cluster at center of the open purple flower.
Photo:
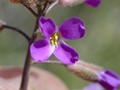
<svg viewBox="0 0 120 90">
<path fill-rule="evenodd" d="M 61 39 L 61 35 L 58 32 L 55 32 L 50 37 L 50 43 L 55 45 L 55 47 L 58 47 L 58 42 Z"/>
</svg>

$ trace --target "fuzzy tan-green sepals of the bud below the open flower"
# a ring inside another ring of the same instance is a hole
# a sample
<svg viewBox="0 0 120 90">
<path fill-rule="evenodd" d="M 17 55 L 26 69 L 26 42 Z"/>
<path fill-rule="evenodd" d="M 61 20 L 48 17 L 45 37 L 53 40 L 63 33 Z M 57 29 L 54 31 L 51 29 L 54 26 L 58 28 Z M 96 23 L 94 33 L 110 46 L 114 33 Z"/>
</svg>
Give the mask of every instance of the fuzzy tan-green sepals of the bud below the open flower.
<svg viewBox="0 0 120 90">
<path fill-rule="evenodd" d="M 80 78 L 83 78 L 88 81 L 97 81 L 99 80 L 99 77 L 97 75 L 97 70 L 89 68 L 88 65 L 80 64 L 81 61 L 79 60 L 73 65 L 67 65 L 67 69 L 74 73 L 75 75 L 79 76 Z M 90 65 L 91 66 L 91 65 Z"/>
</svg>

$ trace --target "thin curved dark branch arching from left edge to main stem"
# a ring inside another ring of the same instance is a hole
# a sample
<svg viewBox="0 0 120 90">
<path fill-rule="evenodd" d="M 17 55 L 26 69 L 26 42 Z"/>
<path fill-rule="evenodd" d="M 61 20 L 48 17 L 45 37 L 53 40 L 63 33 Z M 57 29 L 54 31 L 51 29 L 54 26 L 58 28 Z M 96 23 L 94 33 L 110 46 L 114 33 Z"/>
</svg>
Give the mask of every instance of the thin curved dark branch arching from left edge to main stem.
<svg viewBox="0 0 120 90">
<path fill-rule="evenodd" d="M 8 25 L 3 25 L 3 28 L 7 28 L 7 29 L 10 29 L 10 30 L 13 30 L 13 31 L 16 31 L 18 32 L 19 34 L 21 34 L 23 37 L 25 37 L 25 39 L 29 42 L 30 41 L 30 37 L 24 33 L 22 30 L 18 29 L 18 28 L 15 28 L 15 27 L 12 27 L 12 26 L 8 26 Z"/>
</svg>

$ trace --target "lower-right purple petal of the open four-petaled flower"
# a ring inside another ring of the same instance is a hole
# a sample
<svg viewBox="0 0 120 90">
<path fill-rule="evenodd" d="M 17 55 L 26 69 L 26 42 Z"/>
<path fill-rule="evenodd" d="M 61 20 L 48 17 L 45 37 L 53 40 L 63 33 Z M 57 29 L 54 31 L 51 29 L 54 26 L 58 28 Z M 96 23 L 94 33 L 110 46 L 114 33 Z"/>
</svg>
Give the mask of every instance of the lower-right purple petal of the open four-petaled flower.
<svg viewBox="0 0 120 90">
<path fill-rule="evenodd" d="M 79 59 L 78 53 L 64 42 L 60 42 L 54 55 L 64 64 L 74 64 Z"/>
</svg>

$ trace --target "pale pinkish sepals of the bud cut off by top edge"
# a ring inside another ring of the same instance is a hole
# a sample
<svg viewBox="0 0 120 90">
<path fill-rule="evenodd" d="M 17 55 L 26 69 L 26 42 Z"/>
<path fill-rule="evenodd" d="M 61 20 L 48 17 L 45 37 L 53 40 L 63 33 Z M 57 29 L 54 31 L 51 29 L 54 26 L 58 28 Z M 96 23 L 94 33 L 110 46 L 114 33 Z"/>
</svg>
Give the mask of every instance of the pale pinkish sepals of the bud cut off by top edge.
<svg viewBox="0 0 120 90">
<path fill-rule="evenodd" d="M 74 6 L 83 3 L 85 0 L 60 0 L 62 6 Z"/>
</svg>

